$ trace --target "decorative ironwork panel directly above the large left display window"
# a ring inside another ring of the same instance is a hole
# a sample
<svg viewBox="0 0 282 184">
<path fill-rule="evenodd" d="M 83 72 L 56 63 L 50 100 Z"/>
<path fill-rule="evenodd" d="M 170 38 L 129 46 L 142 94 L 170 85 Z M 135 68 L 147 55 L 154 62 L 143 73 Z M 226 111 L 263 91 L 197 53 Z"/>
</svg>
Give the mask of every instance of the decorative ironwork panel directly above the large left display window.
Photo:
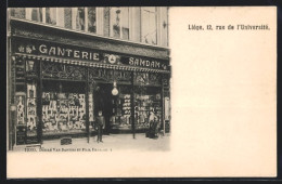
<svg viewBox="0 0 282 184">
<path fill-rule="evenodd" d="M 42 62 L 42 78 L 86 80 L 86 68 L 74 65 Z"/>
</svg>

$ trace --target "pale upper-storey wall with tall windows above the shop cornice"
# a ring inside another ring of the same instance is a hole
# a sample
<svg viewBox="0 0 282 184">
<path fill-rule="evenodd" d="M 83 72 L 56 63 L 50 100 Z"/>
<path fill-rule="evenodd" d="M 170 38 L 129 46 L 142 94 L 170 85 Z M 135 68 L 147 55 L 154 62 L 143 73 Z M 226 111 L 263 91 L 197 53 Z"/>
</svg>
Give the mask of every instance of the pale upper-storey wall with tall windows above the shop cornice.
<svg viewBox="0 0 282 184">
<path fill-rule="evenodd" d="M 158 45 L 167 45 L 167 13 L 155 6 L 11 9 L 17 18 Z"/>
</svg>

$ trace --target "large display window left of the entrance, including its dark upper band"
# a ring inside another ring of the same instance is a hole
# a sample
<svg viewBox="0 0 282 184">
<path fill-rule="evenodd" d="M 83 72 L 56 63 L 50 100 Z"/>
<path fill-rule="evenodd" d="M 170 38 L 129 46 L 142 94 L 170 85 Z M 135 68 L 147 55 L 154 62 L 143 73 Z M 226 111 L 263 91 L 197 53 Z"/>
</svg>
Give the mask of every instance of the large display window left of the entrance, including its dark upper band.
<svg viewBox="0 0 282 184">
<path fill-rule="evenodd" d="M 85 83 L 44 81 L 43 135 L 86 132 Z"/>
</svg>

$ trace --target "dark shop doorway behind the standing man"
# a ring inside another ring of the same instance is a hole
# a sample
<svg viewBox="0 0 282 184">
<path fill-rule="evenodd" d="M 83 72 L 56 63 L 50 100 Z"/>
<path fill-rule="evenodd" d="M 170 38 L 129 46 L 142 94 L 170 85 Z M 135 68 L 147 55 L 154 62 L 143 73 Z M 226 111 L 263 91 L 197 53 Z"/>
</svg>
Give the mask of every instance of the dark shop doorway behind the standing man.
<svg viewBox="0 0 282 184">
<path fill-rule="evenodd" d="M 94 115 L 98 116 L 98 111 L 102 110 L 103 116 L 105 117 L 105 129 L 104 129 L 104 134 L 110 134 L 111 132 L 111 123 L 110 119 L 113 116 L 114 111 L 114 103 L 115 103 L 115 97 L 112 94 L 113 90 L 113 84 L 112 83 L 100 83 L 98 86 L 97 91 L 93 93 L 94 101 L 95 103 L 95 108 L 94 108 Z"/>
</svg>

